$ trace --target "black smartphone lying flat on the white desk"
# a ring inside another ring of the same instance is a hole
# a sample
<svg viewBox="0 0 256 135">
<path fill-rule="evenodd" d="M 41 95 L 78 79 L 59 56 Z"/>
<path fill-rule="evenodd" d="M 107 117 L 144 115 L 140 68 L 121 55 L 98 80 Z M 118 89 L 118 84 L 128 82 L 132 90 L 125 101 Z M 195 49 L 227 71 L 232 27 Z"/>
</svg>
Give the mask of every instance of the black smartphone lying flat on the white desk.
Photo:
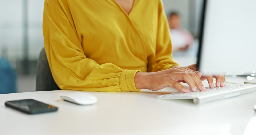
<svg viewBox="0 0 256 135">
<path fill-rule="evenodd" d="M 34 99 L 7 101 L 4 104 L 6 107 L 11 107 L 27 114 L 54 112 L 58 110 L 55 106 L 36 101 Z"/>
</svg>

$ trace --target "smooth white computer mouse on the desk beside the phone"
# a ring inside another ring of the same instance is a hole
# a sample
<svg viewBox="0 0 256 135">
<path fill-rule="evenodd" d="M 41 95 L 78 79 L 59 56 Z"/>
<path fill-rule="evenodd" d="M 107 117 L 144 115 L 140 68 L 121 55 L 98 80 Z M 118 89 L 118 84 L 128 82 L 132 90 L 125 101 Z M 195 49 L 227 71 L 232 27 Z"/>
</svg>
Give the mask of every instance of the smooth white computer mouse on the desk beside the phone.
<svg viewBox="0 0 256 135">
<path fill-rule="evenodd" d="M 97 98 L 86 92 L 71 92 L 60 95 L 60 98 L 79 105 L 90 105 L 97 102 Z"/>
</svg>

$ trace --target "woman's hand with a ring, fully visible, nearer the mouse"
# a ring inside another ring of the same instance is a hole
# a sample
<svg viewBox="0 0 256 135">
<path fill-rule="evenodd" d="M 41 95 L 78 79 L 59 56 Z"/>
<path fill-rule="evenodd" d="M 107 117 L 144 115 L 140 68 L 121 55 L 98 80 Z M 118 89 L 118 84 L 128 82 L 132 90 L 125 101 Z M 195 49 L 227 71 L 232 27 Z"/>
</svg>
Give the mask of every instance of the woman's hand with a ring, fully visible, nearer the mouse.
<svg viewBox="0 0 256 135">
<path fill-rule="evenodd" d="M 191 91 L 196 91 L 196 87 L 200 91 L 206 91 L 200 79 L 201 76 L 202 74 L 198 71 L 175 67 L 152 73 L 137 72 L 134 80 L 137 89 L 158 91 L 165 87 L 174 87 L 179 91 L 188 93 L 189 90 L 180 82 L 187 83 Z"/>
</svg>

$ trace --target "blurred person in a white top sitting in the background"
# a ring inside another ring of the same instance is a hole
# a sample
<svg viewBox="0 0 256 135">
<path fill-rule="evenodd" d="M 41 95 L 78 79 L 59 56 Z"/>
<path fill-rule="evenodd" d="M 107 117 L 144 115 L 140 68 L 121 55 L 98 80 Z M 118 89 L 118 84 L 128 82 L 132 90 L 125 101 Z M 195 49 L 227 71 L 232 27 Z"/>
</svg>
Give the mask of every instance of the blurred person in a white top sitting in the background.
<svg viewBox="0 0 256 135">
<path fill-rule="evenodd" d="M 181 19 L 177 12 L 172 12 L 168 18 L 173 52 L 185 51 L 194 43 L 192 34 L 181 28 Z"/>
</svg>

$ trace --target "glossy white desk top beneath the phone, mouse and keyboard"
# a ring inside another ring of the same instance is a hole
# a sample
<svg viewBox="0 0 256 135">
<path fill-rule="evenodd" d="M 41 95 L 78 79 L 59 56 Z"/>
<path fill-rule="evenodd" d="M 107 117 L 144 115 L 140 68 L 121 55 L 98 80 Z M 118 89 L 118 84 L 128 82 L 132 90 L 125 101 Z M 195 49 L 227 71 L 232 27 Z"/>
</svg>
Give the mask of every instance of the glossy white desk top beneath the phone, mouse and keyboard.
<svg viewBox="0 0 256 135">
<path fill-rule="evenodd" d="M 60 99 L 61 94 L 72 92 L 71 90 L 3 94 L 0 95 L 0 134 L 242 135 L 256 133 L 256 112 L 252 108 L 256 105 L 256 92 L 200 105 L 193 104 L 192 100 L 156 99 L 156 96 L 170 91 L 173 89 L 89 92 L 98 98 L 98 102 L 88 106 L 76 105 Z M 59 109 L 52 113 L 28 115 L 4 105 L 8 100 L 28 98 L 55 105 Z"/>
</svg>

